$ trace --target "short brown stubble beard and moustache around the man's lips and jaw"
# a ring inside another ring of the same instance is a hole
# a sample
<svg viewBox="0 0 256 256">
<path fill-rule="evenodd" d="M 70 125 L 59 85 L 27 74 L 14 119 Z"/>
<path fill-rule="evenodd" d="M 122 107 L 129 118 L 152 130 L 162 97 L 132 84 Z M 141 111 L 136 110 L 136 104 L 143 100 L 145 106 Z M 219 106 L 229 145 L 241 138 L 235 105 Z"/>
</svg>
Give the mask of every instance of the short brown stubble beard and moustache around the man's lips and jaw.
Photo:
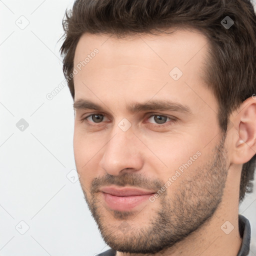
<svg viewBox="0 0 256 256">
<path fill-rule="evenodd" d="M 132 221 L 135 222 L 139 215 L 138 212 L 103 209 L 106 212 L 104 213 L 96 192 L 100 182 L 94 180 L 90 189 L 90 199 L 85 189 L 83 193 L 106 244 L 121 252 L 152 254 L 170 248 L 198 229 L 210 219 L 221 202 L 228 171 L 225 155 L 223 136 L 214 148 L 213 156 L 208 159 L 209 163 L 195 169 L 192 169 L 191 165 L 186 171 L 194 173 L 192 178 L 191 176 L 188 178 L 188 175 L 184 176 L 180 181 L 179 189 L 171 191 L 169 198 L 166 193 L 157 198 L 160 206 L 150 211 L 151 217 L 143 226 L 139 226 L 138 222 L 132 225 Z M 124 178 L 108 176 L 107 180 L 108 184 L 135 184 L 138 187 L 143 183 L 141 179 L 135 180 L 134 175 L 130 173 L 125 173 Z M 105 185 L 106 179 L 104 181 Z M 158 180 L 150 184 L 152 184 L 150 188 L 160 185 Z M 116 220 L 111 222 L 113 218 Z M 126 227 L 130 226 L 130 228 L 123 231 L 120 229 L 121 224 L 126 224 Z"/>
</svg>

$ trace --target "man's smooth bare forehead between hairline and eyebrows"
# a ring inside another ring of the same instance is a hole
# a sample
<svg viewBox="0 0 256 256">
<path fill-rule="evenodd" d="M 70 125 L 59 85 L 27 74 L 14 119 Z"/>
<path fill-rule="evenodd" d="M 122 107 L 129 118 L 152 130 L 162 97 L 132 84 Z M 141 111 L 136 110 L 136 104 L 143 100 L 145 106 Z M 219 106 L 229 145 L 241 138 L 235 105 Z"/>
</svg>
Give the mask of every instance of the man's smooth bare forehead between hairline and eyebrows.
<svg viewBox="0 0 256 256">
<path fill-rule="evenodd" d="M 84 33 L 74 54 L 75 99 L 93 97 L 100 103 L 98 98 L 117 102 L 129 97 L 138 102 L 169 95 L 176 102 L 212 101 L 215 108 L 203 79 L 206 36 L 196 29 L 169 31 L 124 38 Z M 199 107 L 205 104 L 200 103 Z"/>
</svg>

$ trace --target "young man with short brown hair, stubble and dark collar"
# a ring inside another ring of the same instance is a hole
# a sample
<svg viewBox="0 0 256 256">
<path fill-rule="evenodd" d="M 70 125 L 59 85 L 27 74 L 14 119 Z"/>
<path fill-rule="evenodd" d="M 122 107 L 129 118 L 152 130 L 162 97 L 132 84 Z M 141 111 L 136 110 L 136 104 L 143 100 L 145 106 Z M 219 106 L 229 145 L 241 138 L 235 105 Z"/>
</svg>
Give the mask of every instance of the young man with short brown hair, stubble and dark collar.
<svg viewBox="0 0 256 256">
<path fill-rule="evenodd" d="M 76 168 L 111 247 L 99 255 L 248 255 L 252 4 L 76 0 L 63 28 Z"/>
</svg>

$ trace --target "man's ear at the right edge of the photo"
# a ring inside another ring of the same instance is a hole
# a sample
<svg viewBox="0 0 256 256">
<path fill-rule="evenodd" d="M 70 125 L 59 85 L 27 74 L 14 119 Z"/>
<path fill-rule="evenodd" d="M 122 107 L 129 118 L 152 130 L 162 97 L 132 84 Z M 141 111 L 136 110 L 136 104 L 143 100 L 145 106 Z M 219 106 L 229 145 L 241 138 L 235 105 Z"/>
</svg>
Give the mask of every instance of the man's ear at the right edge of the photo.
<svg viewBox="0 0 256 256">
<path fill-rule="evenodd" d="M 254 94 L 253 94 L 254 95 Z M 232 155 L 231 162 L 243 164 L 256 154 L 256 97 L 242 102 L 232 113 Z"/>
</svg>

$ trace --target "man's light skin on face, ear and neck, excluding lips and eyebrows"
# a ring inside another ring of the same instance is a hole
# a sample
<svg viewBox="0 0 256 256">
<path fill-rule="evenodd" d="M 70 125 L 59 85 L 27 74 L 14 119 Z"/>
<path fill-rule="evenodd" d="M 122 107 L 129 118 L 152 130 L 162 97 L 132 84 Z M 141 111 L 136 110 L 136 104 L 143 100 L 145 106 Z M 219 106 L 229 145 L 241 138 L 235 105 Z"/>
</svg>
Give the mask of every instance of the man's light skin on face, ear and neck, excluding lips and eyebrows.
<svg viewBox="0 0 256 256">
<path fill-rule="evenodd" d="M 216 99 L 203 80 L 208 41 L 194 29 L 122 39 L 83 34 L 74 66 L 94 48 L 99 52 L 74 76 L 74 101 L 87 99 L 102 110 L 74 105 L 73 146 L 81 187 L 105 242 L 117 256 L 236 255 L 241 167 L 256 150 L 255 99 L 232 112 L 223 137 Z M 169 75 L 175 66 L 183 73 L 178 80 Z M 190 112 L 128 110 L 164 99 Z M 103 114 L 102 121 L 82 120 L 93 113 Z M 152 114 L 170 119 L 159 123 Z M 131 124 L 126 131 L 118 126 L 123 118 L 126 127 Z M 98 190 L 114 184 L 157 191 L 196 152 L 153 202 L 114 211 Z M 220 228 L 225 221 L 233 226 L 228 234 Z"/>
</svg>

